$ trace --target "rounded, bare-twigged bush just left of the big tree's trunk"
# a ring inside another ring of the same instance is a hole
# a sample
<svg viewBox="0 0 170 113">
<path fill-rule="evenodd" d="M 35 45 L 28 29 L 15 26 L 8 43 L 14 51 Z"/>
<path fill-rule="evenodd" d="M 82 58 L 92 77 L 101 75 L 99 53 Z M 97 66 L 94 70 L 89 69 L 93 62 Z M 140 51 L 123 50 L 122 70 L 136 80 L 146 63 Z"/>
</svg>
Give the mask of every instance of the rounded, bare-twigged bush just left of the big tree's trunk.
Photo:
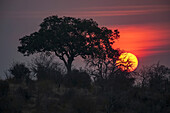
<svg viewBox="0 0 170 113">
<path fill-rule="evenodd" d="M 32 60 L 31 70 L 38 80 L 50 80 L 60 87 L 63 79 L 61 65 L 55 61 L 54 56 L 41 53 Z"/>
</svg>

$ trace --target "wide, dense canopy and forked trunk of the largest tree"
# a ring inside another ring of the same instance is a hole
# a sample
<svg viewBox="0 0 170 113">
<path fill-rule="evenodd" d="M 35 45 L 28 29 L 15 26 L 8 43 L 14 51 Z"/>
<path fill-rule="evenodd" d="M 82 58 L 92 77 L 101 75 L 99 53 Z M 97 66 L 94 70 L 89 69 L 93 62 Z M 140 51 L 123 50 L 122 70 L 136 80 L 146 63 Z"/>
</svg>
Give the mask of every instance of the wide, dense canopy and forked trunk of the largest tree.
<svg viewBox="0 0 170 113">
<path fill-rule="evenodd" d="M 70 72 L 77 56 L 113 57 L 112 45 L 116 38 L 119 38 L 118 30 L 100 28 L 92 19 L 50 16 L 44 19 L 37 32 L 20 39 L 18 51 L 26 56 L 53 52 Z"/>
</svg>

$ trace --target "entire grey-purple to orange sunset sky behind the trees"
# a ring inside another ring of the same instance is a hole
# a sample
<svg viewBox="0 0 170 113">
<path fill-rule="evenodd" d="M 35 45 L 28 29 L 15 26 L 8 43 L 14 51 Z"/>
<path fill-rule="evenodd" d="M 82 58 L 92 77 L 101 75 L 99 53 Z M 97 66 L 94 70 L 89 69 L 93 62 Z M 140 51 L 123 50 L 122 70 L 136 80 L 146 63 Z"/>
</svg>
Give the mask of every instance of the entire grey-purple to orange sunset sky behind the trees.
<svg viewBox="0 0 170 113">
<path fill-rule="evenodd" d="M 170 0 L 1 0 L 1 75 L 13 61 L 29 59 L 17 52 L 19 38 L 51 15 L 92 18 L 118 29 L 114 47 L 135 54 L 139 67 L 158 61 L 170 67 Z"/>
</svg>

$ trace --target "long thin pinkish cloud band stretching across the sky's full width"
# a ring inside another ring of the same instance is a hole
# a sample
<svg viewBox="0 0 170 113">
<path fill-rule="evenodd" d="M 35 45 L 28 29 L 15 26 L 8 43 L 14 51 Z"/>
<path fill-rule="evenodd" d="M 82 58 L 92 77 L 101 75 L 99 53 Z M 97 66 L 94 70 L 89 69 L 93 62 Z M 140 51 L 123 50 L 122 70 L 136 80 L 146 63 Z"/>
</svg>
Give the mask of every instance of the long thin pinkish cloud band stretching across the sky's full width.
<svg viewBox="0 0 170 113">
<path fill-rule="evenodd" d="M 0 12 L 6 17 L 15 18 L 42 18 L 50 15 L 74 16 L 74 17 L 108 17 L 108 16 L 127 16 L 144 15 L 161 12 L 169 12 L 170 5 L 139 5 L 139 6 L 114 6 L 114 7 L 87 7 L 74 8 L 65 11 L 6 11 Z"/>
</svg>

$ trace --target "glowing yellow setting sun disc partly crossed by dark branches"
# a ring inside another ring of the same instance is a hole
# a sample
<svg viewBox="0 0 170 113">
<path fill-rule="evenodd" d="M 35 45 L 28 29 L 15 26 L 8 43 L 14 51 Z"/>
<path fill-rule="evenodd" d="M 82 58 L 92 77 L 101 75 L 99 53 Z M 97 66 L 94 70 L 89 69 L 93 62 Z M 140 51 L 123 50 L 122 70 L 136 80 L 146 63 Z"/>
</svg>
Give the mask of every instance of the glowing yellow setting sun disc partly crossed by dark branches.
<svg viewBox="0 0 170 113">
<path fill-rule="evenodd" d="M 134 54 L 125 52 L 120 55 L 116 65 L 123 71 L 132 72 L 138 66 L 138 59 Z"/>
</svg>

